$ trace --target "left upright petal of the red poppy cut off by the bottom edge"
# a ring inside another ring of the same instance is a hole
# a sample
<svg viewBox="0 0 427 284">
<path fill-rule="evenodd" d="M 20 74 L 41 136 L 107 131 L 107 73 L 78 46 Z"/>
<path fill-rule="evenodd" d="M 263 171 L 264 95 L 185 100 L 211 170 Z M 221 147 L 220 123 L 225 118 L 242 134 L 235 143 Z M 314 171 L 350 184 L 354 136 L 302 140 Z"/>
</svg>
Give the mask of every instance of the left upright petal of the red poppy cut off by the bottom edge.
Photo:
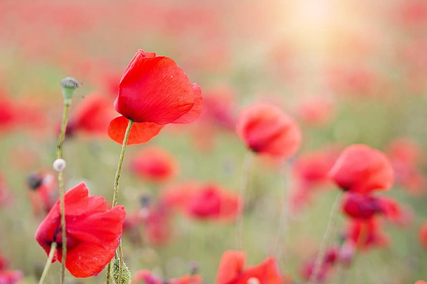
<svg viewBox="0 0 427 284">
<path fill-rule="evenodd" d="M 234 283 L 245 266 L 245 252 L 226 251 L 221 256 L 218 273 L 216 274 L 217 284 Z"/>
</svg>

